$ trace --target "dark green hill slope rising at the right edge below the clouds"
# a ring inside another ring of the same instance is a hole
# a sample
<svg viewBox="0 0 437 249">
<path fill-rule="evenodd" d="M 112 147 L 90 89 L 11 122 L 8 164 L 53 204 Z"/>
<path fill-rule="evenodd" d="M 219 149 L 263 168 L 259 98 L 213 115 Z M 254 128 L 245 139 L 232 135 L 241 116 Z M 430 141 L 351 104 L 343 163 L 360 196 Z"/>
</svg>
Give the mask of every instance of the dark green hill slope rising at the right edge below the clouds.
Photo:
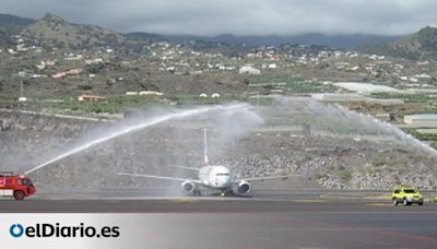
<svg viewBox="0 0 437 249">
<path fill-rule="evenodd" d="M 417 33 L 401 37 L 391 43 L 356 47 L 358 51 L 392 57 L 418 59 L 437 59 L 437 28 L 424 27 Z"/>
</svg>

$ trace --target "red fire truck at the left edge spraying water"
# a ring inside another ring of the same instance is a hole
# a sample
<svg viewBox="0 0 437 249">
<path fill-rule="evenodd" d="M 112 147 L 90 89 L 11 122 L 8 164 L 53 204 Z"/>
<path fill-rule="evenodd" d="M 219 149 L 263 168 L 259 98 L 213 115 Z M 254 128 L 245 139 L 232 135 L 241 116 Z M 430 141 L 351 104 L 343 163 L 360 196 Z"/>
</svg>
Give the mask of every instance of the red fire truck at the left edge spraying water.
<svg viewBox="0 0 437 249">
<path fill-rule="evenodd" d="M 35 193 L 35 186 L 26 176 L 17 176 L 11 171 L 0 171 L 0 197 L 14 198 L 22 201 Z"/>
</svg>

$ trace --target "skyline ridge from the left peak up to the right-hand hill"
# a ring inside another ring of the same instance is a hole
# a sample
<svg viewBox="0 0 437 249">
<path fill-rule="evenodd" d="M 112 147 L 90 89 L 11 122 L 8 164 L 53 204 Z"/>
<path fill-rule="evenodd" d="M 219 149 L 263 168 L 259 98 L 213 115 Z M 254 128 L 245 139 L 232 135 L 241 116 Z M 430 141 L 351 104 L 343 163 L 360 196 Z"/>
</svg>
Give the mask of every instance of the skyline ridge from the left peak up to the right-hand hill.
<svg viewBox="0 0 437 249">
<path fill-rule="evenodd" d="M 23 35 L 36 45 L 45 47 L 69 47 L 70 49 L 87 48 L 90 46 L 116 46 L 126 40 L 135 39 L 138 42 L 168 40 L 172 43 L 187 43 L 190 40 L 202 40 L 203 43 L 224 43 L 228 45 L 279 46 L 281 44 L 320 45 L 333 48 L 349 49 L 363 44 L 388 43 L 398 37 L 378 35 L 323 35 L 323 34 L 302 34 L 302 35 L 268 35 L 268 36 L 193 36 L 193 35 L 160 35 L 143 32 L 118 34 L 109 29 L 95 25 L 73 24 L 63 19 L 46 14 L 36 21 L 23 19 L 9 14 L 0 14 L 0 45 L 10 45 L 11 36 Z"/>
</svg>

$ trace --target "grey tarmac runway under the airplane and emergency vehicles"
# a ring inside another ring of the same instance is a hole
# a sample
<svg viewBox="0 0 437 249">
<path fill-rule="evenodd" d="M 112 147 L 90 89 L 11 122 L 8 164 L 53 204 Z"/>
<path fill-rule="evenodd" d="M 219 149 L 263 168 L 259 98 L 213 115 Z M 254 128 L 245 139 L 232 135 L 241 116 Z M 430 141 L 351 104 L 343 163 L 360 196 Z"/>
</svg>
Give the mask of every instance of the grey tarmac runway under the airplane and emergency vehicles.
<svg viewBox="0 0 437 249">
<path fill-rule="evenodd" d="M 0 212 L 141 213 L 152 248 L 436 248 L 437 205 L 393 206 L 383 192 L 256 191 L 251 197 L 162 197 L 158 191 L 40 192 Z M 164 194 L 165 195 L 165 194 Z M 432 197 L 432 193 L 428 193 Z"/>
</svg>

